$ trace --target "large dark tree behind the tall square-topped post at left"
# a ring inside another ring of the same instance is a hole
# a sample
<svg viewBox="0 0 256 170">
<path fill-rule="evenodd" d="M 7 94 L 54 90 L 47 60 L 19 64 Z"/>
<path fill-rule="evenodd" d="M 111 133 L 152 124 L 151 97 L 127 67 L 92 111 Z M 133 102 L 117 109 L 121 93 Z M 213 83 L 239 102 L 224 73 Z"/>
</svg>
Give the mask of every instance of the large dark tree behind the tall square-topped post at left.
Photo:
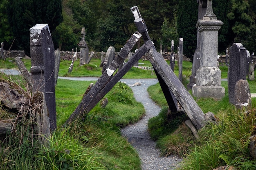
<svg viewBox="0 0 256 170">
<path fill-rule="evenodd" d="M 62 21 L 61 0 L 9 0 L 9 23 L 16 38 L 14 48 L 29 55 L 29 28 L 47 23 L 50 31 Z"/>
</svg>

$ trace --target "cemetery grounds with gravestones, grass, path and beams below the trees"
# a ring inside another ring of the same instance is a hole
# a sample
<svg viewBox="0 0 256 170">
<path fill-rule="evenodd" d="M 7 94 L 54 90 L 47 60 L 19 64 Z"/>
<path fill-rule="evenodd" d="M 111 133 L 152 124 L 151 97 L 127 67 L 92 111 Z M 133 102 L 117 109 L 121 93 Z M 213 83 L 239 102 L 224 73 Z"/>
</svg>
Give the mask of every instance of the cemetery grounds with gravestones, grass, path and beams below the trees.
<svg viewBox="0 0 256 170">
<path fill-rule="evenodd" d="M 90 51 L 82 27 L 75 50 L 60 51 L 48 24 L 29 29 L 29 59 L 2 43 L 0 150 L 8 159 L 0 167 L 16 158 L 9 142 L 42 169 L 255 169 L 254 53 L 236 42 L 218 56 L 224 23 L 212 3 L 198 0 L 193 61 L 183 37 L 158 52 L 137 6 L 130 8 L 137 31 L 120 50 Z M 138 145 L 148 140 L 164 165 L 141 159 Z"/>
</svg>

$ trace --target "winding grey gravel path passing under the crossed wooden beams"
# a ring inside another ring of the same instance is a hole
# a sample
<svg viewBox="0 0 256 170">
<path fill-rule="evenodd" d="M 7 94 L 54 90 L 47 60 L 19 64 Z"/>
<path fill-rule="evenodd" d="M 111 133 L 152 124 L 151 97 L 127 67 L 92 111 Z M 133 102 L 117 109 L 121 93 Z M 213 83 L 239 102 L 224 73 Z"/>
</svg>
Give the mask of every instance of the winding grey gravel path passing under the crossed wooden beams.
<svg viewBox="0 0 256 170">
<path fill-rule="evenodd" d="M 121 133 L 128 139 L 128 142 L 137 150 L 141 159 L 142 170 L 174 170 L 182 160 L 176 156 L 159 157 L 160 151 L 156 148 L 156 143 L 150 139 L 147 131 L 148 120 L 157 116 L 161 108 L 148 96 L 147 88 L 158 82 L 157 79 L 121 79 L 129 85 L 133 91 L 135 99 L 144 105 L 146 115 L 136 124 L 126 126 L 121 129 Z M 139 86 L 133 86 L 135 83 Z M 133 87 L 132 87 L 133 86 Z"/>
</svg>

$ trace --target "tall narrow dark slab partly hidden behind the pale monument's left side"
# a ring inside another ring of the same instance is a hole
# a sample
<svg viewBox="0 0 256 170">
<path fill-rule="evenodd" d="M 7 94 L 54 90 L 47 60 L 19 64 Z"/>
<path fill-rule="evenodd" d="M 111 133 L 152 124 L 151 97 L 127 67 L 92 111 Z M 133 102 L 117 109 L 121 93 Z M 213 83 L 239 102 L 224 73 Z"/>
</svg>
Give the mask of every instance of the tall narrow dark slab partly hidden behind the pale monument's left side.
<svg viewBox="0 0 256 170">
<path fill-rule="evenodd" d="M 204 14 L 207 10 L 207 0 L 197 0 L 198 4 L 198 22 L 202 20 Z M 198 28 L 198 23 L 196 27 Z M 197 41 L 196 41 L 196 50 L 193 56 L 193 65 L 192 65 L 192 74 L 189 76 L 189 84 L 187 85 L 187 89 L 191 90 L 193 86 L 196 85 L 196 71 L 200 68 L 200 45 L 201 45 L 201 32 L 198 28 L 197 33 Z"/>
</svg>

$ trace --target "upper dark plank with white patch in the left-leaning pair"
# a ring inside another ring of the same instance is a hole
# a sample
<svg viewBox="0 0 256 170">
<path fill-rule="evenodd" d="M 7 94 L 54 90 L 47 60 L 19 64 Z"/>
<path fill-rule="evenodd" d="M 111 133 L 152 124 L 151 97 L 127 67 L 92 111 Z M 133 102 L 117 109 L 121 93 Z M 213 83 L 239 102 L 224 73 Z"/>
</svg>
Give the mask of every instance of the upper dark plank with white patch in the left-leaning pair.
<svg viewBox="0 0 256 170">
<path fill-rule="evenodd" d="M 124 62 L 124 59 L 130 52 L 130 50 L 132 50 L 132 48 L 135 46 L 135 44 L 140 39 L 140 37 L 141 37 L 141 34 L 136 31 L 132 35 L 132 37 L 126 42 L 126 44 L 121 49 L 117 57 L 115 57 L 115 59 L 108 66 L 108 68 L 102 73 L 101 77 L 98 79 L 95 85 L 90 89 L 88 94 L 83 96 L 81 103 L 76 107 L 75 111 L 67 119 L 64 126 L 66 124 L 72 123 L 77 118 L 80 118 L 83 115 L 83 113 L 88 113 L 88 111 L 86 111 L 88 105 L 90 105 L 92 100 L 95 98 L 95 96 L 97 96 L 97 94 L 99 94 L 99 92 L 101 91 L 101 89 L 103 89 L 106 83 L 110 81 L 115 70 L 117 70 L 119 65 Z"/>
</svg>

